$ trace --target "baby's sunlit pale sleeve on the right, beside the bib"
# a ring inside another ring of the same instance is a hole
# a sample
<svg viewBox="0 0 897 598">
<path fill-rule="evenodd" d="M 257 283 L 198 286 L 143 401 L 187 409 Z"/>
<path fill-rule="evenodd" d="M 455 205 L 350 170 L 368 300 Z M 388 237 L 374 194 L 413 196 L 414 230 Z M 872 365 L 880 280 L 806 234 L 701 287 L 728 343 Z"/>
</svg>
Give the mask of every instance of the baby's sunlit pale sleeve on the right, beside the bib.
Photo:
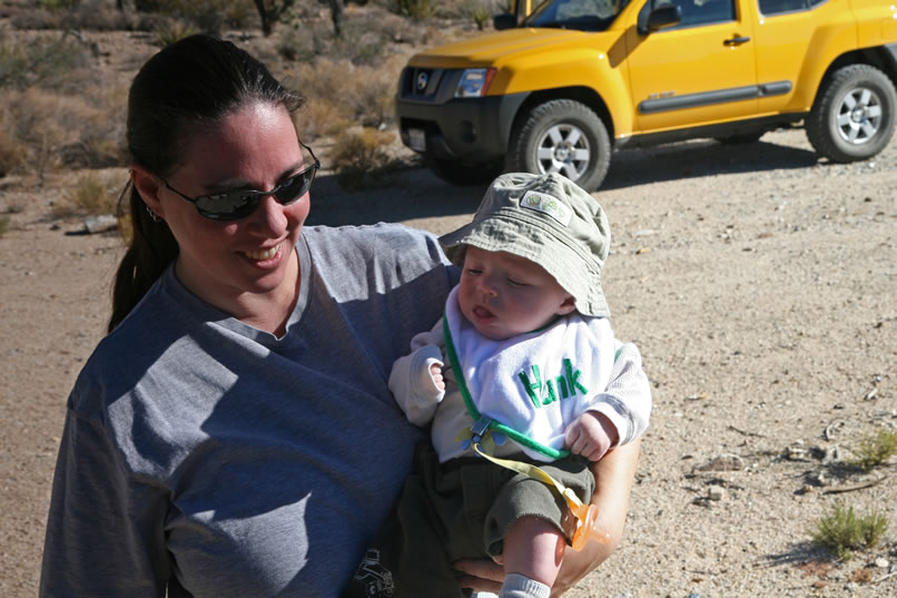
<svg viewBox="0 0 897 598">
<path fill-rule="evenodd" d="M 639 349 L 617 342 L 617 357 L 604 392 L 597 395 L 589 411 L 608 416 L 617 428 L 618 445 L 632 442 L 648 429 L 651 416 L 651 384 L 642 367 Z"/>
</svg>

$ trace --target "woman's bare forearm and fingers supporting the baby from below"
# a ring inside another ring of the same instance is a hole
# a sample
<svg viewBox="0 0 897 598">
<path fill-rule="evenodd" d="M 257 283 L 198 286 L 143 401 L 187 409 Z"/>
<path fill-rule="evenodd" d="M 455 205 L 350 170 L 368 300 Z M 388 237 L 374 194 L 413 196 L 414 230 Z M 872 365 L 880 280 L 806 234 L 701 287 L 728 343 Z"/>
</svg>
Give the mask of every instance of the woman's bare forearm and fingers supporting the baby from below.
<svg viewBox="0 0 897 598">
<path fill-rule="evenodd" d="M 595 491 L 592 504 L 598 506 L 601 527 L 611 535 L 607 545 L 590 541 L 582 552 L 568 547 L 558 580 L 551 590 L 556 598 L 585 577 L 620 545 L 623 537 L 627 512 L 629 511 L 629 493 L 635 479 L 635 467 L 639 463 L 641 440 L 618 447 L 601 461 L 592 464 L 595 474 Z M 464 572 L 459 579 L 463 588 L 476 591 L 497 592 L 502 587 L 504 570 L 491 560 L 463 560 L 455 563 L 455 569 Z"/>
</svg>

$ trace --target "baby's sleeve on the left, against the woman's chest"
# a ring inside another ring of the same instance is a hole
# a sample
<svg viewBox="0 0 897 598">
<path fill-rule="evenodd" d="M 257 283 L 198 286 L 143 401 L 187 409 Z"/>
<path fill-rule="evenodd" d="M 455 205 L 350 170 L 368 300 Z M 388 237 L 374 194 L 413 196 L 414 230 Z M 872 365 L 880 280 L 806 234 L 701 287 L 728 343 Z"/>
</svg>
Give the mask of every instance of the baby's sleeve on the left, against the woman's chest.
<svg viewBox="0 0 897 598">
<path fill-rule="evenodd" d="M 422 332 L 411 341 L 412 352 L 398 357 L 390 373 L 390 390 L 408 421 L 415 425 L 430 424 L 445 391 L 436 386 L 430 373 L 434 363 L 443 362 L 442 318 L 433 330 Z"/>
</svg>

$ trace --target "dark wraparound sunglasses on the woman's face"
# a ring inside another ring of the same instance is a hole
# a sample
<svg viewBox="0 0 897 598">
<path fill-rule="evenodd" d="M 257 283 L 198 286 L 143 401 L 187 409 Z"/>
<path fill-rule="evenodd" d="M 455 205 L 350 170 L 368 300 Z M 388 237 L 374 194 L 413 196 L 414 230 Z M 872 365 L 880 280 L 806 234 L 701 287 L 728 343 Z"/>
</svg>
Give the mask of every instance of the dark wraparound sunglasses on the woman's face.
<svg viewBox="0 0 897 598">
<path fill-rule="evenodd" d="M 184 195 L 176 188 L 171 187 L 167 180 L 161 179 L 165 186 L 170 190 L 181 196 L 187 202 L 196 206 L 196 210 L 206 218 L 214 220 L 236 220 L 245 218 L 258 206 L 258 203 L 266 195 L 273 195 L 274 199 L 284 206 L 288 206 L 297 202 L 302 196 L 308 193 L 312 188 L 312 182 L 315 179 L 315 174 L 321 168 L 321 161 L 315 157 L 312 148 L 299 143 L 302 147 L 308 150 L 312 159 L 315 160 L 307 168 L 296 173 L 287 180 L 277 185 L 269 192 L 256 192 L 252 189 L 236 189 L 233 192 L 215 193 L 211 195 L 200 195 L 199 197 L 190 197 Z"/>
</svg>

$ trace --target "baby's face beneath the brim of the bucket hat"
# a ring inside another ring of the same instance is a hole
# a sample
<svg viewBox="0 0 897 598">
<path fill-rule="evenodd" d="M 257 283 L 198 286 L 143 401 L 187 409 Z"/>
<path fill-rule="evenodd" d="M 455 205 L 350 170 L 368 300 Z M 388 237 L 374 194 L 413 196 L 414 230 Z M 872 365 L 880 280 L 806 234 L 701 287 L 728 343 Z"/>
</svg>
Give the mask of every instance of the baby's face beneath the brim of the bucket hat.
<svg viewBox="0 0 897 598">
<path fill-rule="evenodd" d="M 466 249 L 457 302 L 477 332 L 496 341 L 541 329 L 574 308 L 573 297 L 542 266 L 479 247 Z"/>
</svg>

